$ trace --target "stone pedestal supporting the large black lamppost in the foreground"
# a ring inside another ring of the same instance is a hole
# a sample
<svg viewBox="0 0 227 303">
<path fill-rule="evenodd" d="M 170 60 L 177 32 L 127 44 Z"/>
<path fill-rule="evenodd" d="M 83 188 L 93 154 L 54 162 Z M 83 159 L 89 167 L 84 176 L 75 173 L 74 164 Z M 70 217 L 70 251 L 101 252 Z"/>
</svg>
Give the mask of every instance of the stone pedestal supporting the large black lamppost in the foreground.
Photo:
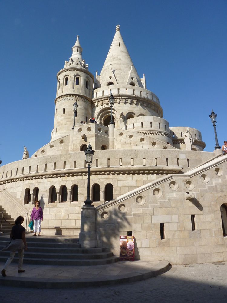
<svg viewBox="0 0 227 303">
<path fill-rule="evenodd" d="M 83 205 L 81 211 L 81 231 L 79 243 L 81 247 L 96 247 L 95 208 L 94 205 Z"/>
</svg>

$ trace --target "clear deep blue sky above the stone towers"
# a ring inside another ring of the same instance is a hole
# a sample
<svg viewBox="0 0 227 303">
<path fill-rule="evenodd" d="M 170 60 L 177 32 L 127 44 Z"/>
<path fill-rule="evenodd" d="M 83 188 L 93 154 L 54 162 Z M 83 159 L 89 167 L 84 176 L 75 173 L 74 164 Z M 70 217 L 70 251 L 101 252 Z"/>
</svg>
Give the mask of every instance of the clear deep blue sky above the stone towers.
<svg viewBox="0 0 227 303">
<path fill-rule="evenodd" d="M 227 139 L 227 1 L 0 1 L 0 159 L 47 144 L 56 74 L 80 36 L 90 72 L 100 74 L 115 27 L 138 74 L 160 99 L 170 126 L 202 132 L 205 151 Z"/>
</svg>

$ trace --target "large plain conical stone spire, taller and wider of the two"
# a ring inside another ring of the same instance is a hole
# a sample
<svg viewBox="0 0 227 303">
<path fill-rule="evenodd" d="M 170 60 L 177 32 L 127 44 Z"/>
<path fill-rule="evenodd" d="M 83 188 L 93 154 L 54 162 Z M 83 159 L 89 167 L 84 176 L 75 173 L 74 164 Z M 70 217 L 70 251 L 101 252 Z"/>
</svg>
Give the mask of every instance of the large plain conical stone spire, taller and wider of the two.
<svg viewBox="0 0 227 303">
<path fill-rule="evenodd" d="M 115 82 L 113 81 L 113 73 Z M 120 34 L 120 25 L 118 24 L 106 61 L 100 73 L 100 84 L 101 86 L 106 86 L 108 82 L 113 82 L 118 85 L 129 85 L 132 81 L 136 86 L 143 87 Z"/>
</svg>

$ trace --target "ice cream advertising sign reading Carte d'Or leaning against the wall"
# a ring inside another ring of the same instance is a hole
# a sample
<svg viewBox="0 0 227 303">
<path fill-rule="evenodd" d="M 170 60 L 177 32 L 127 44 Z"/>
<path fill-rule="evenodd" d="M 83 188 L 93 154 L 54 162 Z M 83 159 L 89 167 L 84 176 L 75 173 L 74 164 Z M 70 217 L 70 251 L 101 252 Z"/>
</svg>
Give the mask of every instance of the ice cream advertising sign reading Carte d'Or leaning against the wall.
<svg viewBox="0 0 227 303">
<path fill-rule="evenodd" d="M 134 261 L 135 244 L 133 236 L 120 236 L 120 261 Z"/>
</svg>

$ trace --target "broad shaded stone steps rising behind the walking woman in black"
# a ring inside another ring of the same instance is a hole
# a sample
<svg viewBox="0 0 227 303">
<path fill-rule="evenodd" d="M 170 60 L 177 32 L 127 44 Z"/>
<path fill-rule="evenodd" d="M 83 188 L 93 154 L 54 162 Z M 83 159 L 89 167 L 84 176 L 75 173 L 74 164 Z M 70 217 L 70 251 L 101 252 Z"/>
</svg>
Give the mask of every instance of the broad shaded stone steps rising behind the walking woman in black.
<svg viewBox="0 0 227 303">
<path fill-rule="evenodd" d="M 1 236 L 0 250 L 9 241 L 9 237 Z M 119 260 L 109 249 L 81 248 L 75 238 L 26 235 L 26 241 L 28 250 L 24 251 L 25 264 L 87 266 L 110 264 Z M 0 262 L 5 262 L 8 257 L 8 251 L 0 252 Z M 13 262 L 18 262 L 17 253 Z"/>
</svg>

